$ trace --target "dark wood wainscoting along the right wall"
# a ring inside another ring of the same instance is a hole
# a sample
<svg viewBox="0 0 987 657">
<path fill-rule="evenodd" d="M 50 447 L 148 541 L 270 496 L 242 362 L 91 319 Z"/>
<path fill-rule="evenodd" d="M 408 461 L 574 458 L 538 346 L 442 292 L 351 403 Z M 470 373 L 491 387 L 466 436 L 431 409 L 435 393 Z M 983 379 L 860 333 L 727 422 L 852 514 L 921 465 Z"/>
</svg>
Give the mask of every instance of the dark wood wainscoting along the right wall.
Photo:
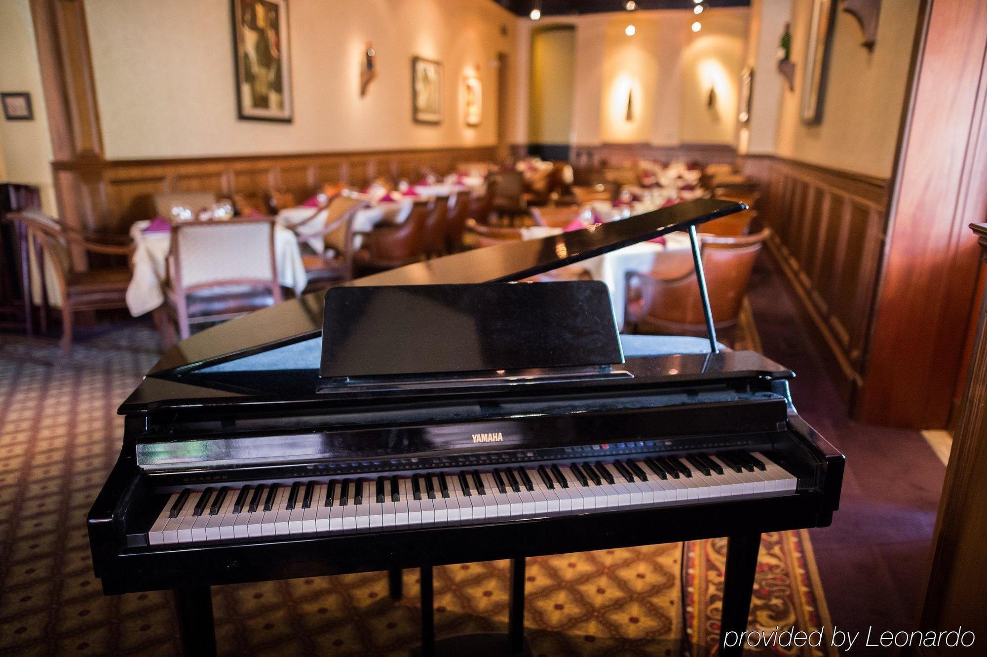
<svg viewBox="0 0 987 657">
<path fill-rule="evenodd" d="M 739 164 L 760 184 L 770 251 L 832 352 L 849 403 L 864 381 L 888 183 L 777 157 Z"/>
</svg>

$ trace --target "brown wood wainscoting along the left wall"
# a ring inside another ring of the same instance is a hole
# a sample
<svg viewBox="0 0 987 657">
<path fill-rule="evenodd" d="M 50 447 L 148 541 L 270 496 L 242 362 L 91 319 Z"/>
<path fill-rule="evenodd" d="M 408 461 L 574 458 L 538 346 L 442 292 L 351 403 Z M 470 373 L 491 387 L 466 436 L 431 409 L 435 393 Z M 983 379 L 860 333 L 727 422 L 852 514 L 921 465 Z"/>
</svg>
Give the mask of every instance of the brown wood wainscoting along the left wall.
<svg viewBox="0 0 987 657">
<path fill-rule="evenodd" d="M 414 181 L 423 171 L 446 174 L 463 162 L 491 162 L 495 146 L 350 153 L 307 153 L 159 160 L 75 159 L 52 163 L 80 227 L 126 233 L 154 216 L 152 196 L 164 191 L 234 192 L 282 189 L 299 202 L 325 183 L 362 186 L 378 176 Z"/>
</svg>

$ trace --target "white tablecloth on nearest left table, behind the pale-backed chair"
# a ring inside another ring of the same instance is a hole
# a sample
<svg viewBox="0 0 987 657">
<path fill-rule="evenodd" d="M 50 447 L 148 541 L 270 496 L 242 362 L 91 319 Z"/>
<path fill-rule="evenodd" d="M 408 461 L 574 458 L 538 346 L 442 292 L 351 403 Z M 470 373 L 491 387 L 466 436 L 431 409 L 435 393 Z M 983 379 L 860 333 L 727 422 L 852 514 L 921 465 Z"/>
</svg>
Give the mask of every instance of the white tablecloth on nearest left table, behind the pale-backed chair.
<svg viewBox="0 0 987 657">
<path fill-rule="evenodd" d="M 133 277 L 126 288 L 126 305 L 130 315 L 148 313 L 165 302 L 165 261 L 172 246 L 171 233 L 143 233 L 147 221 L 130 227 L 130 238 L 137 248 L 133 254 Z M 300 294 L 308 283 L 302 255 L 295 234 L 281 226 L 274 227 L 274 265 L 277 281 Z"/>
</svg>

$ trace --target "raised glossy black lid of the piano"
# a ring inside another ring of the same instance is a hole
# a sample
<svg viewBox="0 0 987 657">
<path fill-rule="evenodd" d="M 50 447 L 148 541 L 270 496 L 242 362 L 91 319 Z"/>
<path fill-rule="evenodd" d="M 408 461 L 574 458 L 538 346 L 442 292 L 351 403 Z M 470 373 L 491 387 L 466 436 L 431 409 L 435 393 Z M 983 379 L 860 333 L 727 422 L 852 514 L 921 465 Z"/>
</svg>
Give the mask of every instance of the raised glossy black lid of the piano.
<svg viewBox="0 0 987 657">
<path fill-rule="evenodd" d="M 364 276 L 347 285 L 521 280 L 745 209 L 747 206 L 743 203 L 700 198 L 620 221 L 594 224 L 580 231 L 434 258 Z M 322 329 L 324 303 L 324 293 L 313 292 L 206 328 L 169 349 L 148 376 L 171 377 L 199 367 L 318 338 Z M 315 367 L 318 368 L 318 363 Z"/>
</svg>

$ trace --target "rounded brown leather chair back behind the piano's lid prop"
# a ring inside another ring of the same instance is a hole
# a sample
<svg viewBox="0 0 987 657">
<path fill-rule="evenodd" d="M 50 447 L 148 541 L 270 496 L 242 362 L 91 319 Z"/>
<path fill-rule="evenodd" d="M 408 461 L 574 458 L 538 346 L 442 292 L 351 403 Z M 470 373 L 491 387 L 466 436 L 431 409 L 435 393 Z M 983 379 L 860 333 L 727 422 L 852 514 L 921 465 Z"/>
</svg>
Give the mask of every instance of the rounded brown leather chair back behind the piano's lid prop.
<svg viewBox="0 0 987 657">
<path fill-rule="evenodd" d="M 717 328 L 736 324 L 747 292 L 754 260 L 771 229 L 741 237 L 702 238 L 703 270 Z M 632 274 L 641 286 L 642 320 L 661 328 L 662 332 L 705 331 L 703 304 L 696 282 L 696 271 L 673 279 L 650 274 Z"/>
</svg>

